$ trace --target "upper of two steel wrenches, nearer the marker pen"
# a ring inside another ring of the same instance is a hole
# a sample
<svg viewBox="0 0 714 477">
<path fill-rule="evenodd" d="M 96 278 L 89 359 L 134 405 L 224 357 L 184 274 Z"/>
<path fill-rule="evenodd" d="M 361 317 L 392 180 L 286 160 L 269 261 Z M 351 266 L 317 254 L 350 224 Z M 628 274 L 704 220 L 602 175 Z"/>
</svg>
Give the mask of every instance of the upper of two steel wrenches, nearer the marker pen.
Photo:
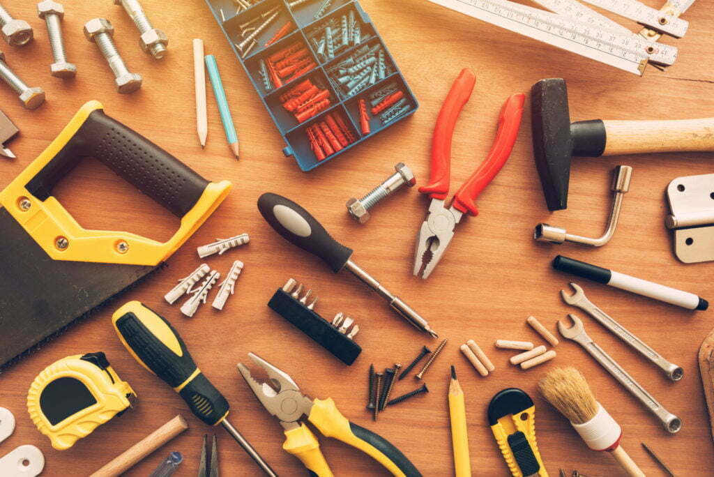
<svg viewBox="0 0 714 477">
<path fill-rule="evenodd" d="M 662 369 L 662 371 L 664 371 L 667 377 L 672 381 L 679 381 L 684 376 L 684 370 L 680 368 L 680 366 L 670 363 L 665 358 L 660 356 L 657 351 L 647 346 L 642 340 L 640 340 L 640 338 L 633 335 L 633 333 L 630 333 L 630 331 L 620 325 L 617 321 L 613 320 L 613 318 L 610 318 L 608 313 L 605 313 L 600 308 L 595 306 L 592 301 L 588 300 L 588 297 L 585 296 L 583 288 L 580 288 L 577 283 L 570 283 L 570 286 L 573 287 L 573 290 L 575 290 L 575 293 L 572 295 L 568 295 L 565 290 L 560 290 L 560 297 L 563 298 L 565 303 L 568 303 L 568 305 L 571 306 L 577 306 L 581 310 L 585 311 L 585 313 L 588 313 L 588 315 L 595 318 L 598 323 L 612 331 L 615 336 L 620 338 L 622 341 L 625 341 L 625 343 L 628 343 L 628 345 L 634 348 L 635 351 L 655 363 L 655 365 Z"/>
</svg>

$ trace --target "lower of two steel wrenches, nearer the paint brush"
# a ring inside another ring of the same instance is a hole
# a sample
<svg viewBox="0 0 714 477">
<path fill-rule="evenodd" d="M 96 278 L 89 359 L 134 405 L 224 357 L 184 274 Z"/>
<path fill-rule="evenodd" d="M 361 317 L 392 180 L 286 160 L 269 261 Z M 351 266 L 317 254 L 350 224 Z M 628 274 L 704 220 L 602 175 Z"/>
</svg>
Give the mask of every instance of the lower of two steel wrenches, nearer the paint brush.
<svg viewBox="0 0 714 477">
<path fill-rule="evenodd" d="M 605 350 L 600 348 L 600 346 L 593 341 L 593 338 L 588 336 L 588 333 L 585 333 L 585 326 L 583 326 L 583 321 L 581 321 L 580 318 L 573 314 L 569 314 L 568 318 L 573 321 L 573 326 L 568 327 L 565 326 L 562 321 L 558 321 L 558 331 L 563 335 L 563 338 L 568 338 L 580 346 L 583 346 L 585 351 L 588 351 L 590 356 L 593 356 L 595 361 L 600 363 L 600 366 L 603 366 L 608 373 L 613 375 L 613 378 L 617 379 L 635 398 L 638 398 L 641 403 L 647 406 L 651 413 L 659 418 L 667 432 L 677 433 L 682 428 L 682 420 L 667 411 L 650 393 L 645 391 L 645 389 L 635 381 L 635 378 L 630 376 L 617 361 L 610 358 L 610 355 L 605 353 Z"/>
</svg>

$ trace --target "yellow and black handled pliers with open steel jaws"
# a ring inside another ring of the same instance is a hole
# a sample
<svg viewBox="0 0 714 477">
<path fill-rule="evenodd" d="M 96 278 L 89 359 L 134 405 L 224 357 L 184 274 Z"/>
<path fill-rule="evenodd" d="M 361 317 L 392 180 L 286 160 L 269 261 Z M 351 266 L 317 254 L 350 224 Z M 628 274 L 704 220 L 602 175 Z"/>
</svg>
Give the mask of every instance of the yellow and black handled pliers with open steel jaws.
<svg viewBox="0 0 714 477">
<path fill-rule="evenodd" d="M 336 438 L 358 448 L 381 463 L 394 476 L 421 476 L 413 463 L 389 441 L 348 421 L 338 411 L 332 398 L 308 398 L 287 373 L 256 354 L 248 353 L 248 356 L 268 373 L 268 382 L 256 381 L 251 376 L 251 370 L 242 363 L 238 363 L 238 371 L 258 401 L 285 428 L 283 449 L 299 458 L 311 476 L 332 477 L 333 473 L 320 451 L 319 441 L 310 428 L 299 421 L 302 416 L 306 416 L 323 436 Z"/>
</svg>

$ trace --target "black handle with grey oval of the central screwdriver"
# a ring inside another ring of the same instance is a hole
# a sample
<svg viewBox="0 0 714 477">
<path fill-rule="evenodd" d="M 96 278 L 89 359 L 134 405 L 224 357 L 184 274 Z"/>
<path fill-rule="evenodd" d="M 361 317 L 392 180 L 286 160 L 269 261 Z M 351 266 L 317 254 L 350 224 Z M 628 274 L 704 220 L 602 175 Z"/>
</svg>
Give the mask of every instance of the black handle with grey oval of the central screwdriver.
<svg viewBox="0 0 714 477">
<path fill-rule="evenodd" d="M 324 227 L 290 199 L 278 194 L 263 194 L 258 210 L 278 234 L 305 251 L 322 258 L 337 273 L 352 256 L 352 249 L 333 239 Z"/>
</svg>

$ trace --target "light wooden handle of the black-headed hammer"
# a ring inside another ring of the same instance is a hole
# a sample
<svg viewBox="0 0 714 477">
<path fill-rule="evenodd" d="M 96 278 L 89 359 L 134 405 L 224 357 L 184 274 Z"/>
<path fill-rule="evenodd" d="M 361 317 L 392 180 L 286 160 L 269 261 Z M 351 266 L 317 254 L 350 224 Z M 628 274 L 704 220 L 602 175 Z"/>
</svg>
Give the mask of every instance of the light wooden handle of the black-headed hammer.
<svg viewBox="0 0 714 477">
<path fill-rule="evenodd" d="M 714 118 L 603 123 L 607 134 L 603 156 L 714 151 Z"/>
</svg>

